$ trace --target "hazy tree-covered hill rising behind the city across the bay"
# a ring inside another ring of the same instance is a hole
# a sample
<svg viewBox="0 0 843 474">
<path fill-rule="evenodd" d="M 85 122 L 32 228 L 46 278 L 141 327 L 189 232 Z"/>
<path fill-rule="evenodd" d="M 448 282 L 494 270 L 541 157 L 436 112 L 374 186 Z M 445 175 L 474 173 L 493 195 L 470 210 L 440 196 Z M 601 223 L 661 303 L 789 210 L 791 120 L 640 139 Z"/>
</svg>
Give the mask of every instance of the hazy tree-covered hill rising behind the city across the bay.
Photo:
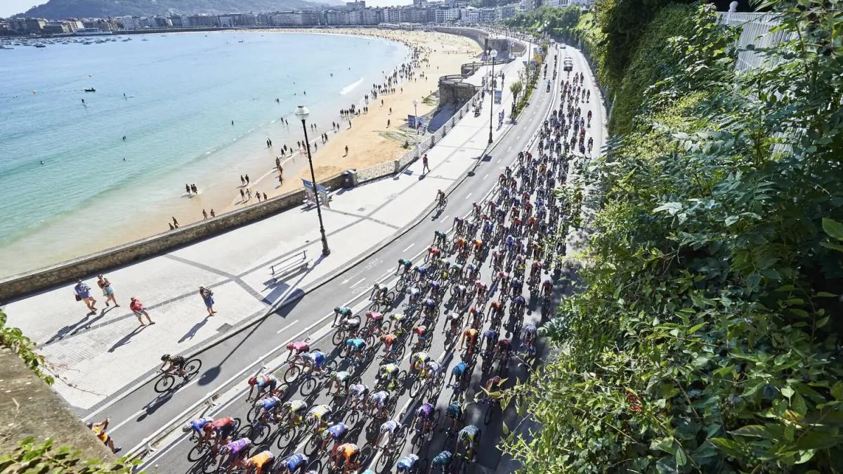
<svg viewBox="0 0 843 474">
<path fill-rule="evenodd" d="M 46 19 L 106 18 L 169 13 L 273 12 L 341 4 L 339 0 L 50 0 L 16 16 Z"/>
</svg>

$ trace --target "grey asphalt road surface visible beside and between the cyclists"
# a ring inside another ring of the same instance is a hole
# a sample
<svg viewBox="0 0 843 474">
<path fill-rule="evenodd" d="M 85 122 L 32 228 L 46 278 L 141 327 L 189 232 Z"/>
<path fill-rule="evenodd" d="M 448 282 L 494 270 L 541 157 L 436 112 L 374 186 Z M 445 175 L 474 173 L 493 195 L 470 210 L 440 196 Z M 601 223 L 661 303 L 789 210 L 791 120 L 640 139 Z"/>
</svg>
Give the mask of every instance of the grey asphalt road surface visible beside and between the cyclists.
<svg viewBox="0 0 843 474">
<path fill-rule="evenodd" d="M 575 64 L 577 65 L 575 72 L 583 71 L 583 68 L 587 67 L 578 53 L 569 52 L 568 54 L 575 56 Z M 562 56 L 564 54 L 560 54 L 560 67 Z M 565 74 L 561 73 L 559 78 L 565 77 Z M 266 317 L 266 319 L 260 320 L 255 325 L 247 327 L 244 331 L 240 331 L 200 353 L 198 357 L 201 358 L 203 365 L 199 376 L 188 384 L 181 386 L 177 391 L 158 395 L 153 390 L 153 380 L 148 385 L 128 394 L 119 402 L 106 407 L 98 416 L 111 417 L 110 434 L 125 449 L 142 444 L 144 439 L 156 433 L 159 428 L 175 420 L 180 420 L 187 413 L 196 412 L 197 402 L 201 403 L 211 394 L 223 393 L 229 386 L 242 382 L 251 374 L 255 374 L 272 355 L 281 352 L 286 353 L 286 349 L 282 347 L 290 340 L 303 339 L 303 336 L 299 337 L 298 335 L 306 329 L 309 329 L 306 333 L 311 337 L 314 335 L 326 336 L 321 341 L 317 339 L 316 342 L 312 342 L 311 347 L 319 347 L 325 353 L 329 353 L 329 358 L 340 360 L 336 357 L 336 352 L 332 353 L 334 347 L 330 342 L 331 333 L 323 329 L 325 325 L 330 325 L 331 319 L 329 319 L 329 316 L 332 314 L 333 308 L 338 305 L 346 305 L 360 311 L 368 307 L 368 294 L 374 282 L 381 281 L 388 283 L 390 287 L 394 287 L 394 278 L 391 276 L 395 272 L 396 263 L 400 258 L 411 258 L 413 260 L 421 258 L 417 256 L 427 248 L 427 245 L 430 245 L 434 230 L 450 229 L 454 216 L 470 213 L 472 202 L 480 201 L 496 184 L 497 175 L 502 168 L 513 162 L 519 150 L 526 148 L 530 138 L 533 137 L 545 118 L 551 102 L 558 102 L 559 82 L 559 80 L 555 81 L 551 93 L 546 93 L 544 88 L 540 88 L 534 93 L 533 100 L 521 116 L 518 125 L 505 137 L 502 137 L 495 148 L 491 149 L 491 160 L 482 162 L 473 175 L 470 175 L 462 185 L 454 189 L 448 197 L 448 207 L 442 213 L 432 213 L 421 224 L 416 225 L 406 234 L 384 247 L 383 250 L 380 250 L 373 258 L 349 268 L 344 275 L 337 277 L 321 288 L 317 288 L 303 299 L 288 304 Z M 590 105 L 596 108 L 598 106 L 596 102 L 596 100 L 593 100 Z M 558 106 L 558 104 L 555 106 Z M 341 242 L 333 242 L 332 244 L 341 245 Z M 486 266 L 481 272 L 481 277 L 488 281 L 491 279 L 491 274 L 491 269 Z M 395 302 L 399 310 L 402 304 L 405 304 L 402 299 Z M 534 308 L 535 303 L 532 305 L 533 307 L 528 310 L 528 315 L 525 316 L 524 324 L 527 324 L 527 321 L 536 322 L 539 320 L 537 312 L 532 311 L 536 309 Z M 459 359 L 459 353 L 451 354 L 443 346 L 442 324 L 443 319 L 440 318 L 438 327 L 434 331 L 437 337 L 434 337 L 428 353 L 432 358 L 441 360 L 444 365 L 448 365 L 449 371 L 458 361 L 455 358 Z M 340 367 L 345 367 L 346 364 L 347 362 L 341 362 Z M 374 385 L 374 374 L 378 365 L 378 359 L 375 359 L 369 365 L 368 369 L 362 373 L 362 383 L 370 387 Z M 401 367 L 405 369 L 407 365 L 408 363 L 404 360 Z M 277 372 L 278 375 L 282 373 L 283 369 Z M 524 380 L 526 375 L 526 370 L 523 367 L 511 364 L 507 374 L 509 378 L 507 385 L 513 384 L 517 379 Z M 481 380 L 486 380 L 486 376 L 481 374 L 481 364 L 478 363 L 472 375 L 468 400 L 471 400 L 474 393 L 479 390 L 478 386 Z M 298 387 L 294 388 L 298 389 Z M 444 406 L 447 406 L 450 396 L 451 391 L 449 389 L 440 393 L 438 406 L 442 410 Z M 296 393 L 289 394 L 288 397 L 303 398 L 298 390 Z M 321 394 L 313 394 L 308 399 L 311 406 L 325 400 L 325 396 Z M 406 390 L 400 395 L 397 410 L 405 413 L 411 412 L 415 405 L 411 402 L 409 390 Z M 245 402 L 245 395 L 241 395 L 232 401 L 222 401 L 220 405 L 212 408 L 212 411 L 208 414 L 217 417 L 232 416 L 245 419 L 245 413 L 249 407 Z M 199 405 L 199 408 L 201 408 L 201 405 Z M 512 428 L 518 423 L 518 417 L 510 408 L 502 416 L 498 414 L 488 426 L 484 426 L 482 419 L 484 411 L 485 406 L 480 407 L 476 404 L 470 406 L 467 411 L 466 422 L 477 424 L 483 428 L 483 448 L 489 449 L 481 449 L 478 462 L 481 466 L 494 469 L 501 455 L 491 447 L 496 443 L 501 433 L 501 422 Z M 368 420 L 363 421 L 368 422 Z M 376 430 L 378 426 L 379 422 L 374 429 Z M 367 429 L 359 429 L 357 435 L 359 445 L 367 444 Z M 442 450 L 441 438 L 443 437 L 437 437 L 433 440 L 427 451 L 429 453 L 427 457 L 432 458 L 433 455 Z M 191 444 L 186 439 L 178 439 L 174 443 L 160 448 L 157 452 L 148 455 L 144 464 L 145 468 L 162 472 L 189 472 L 194 469 L 194 463 L 187 461 L 186 458 L 187 452 L 191 449 Z M 289 450 L 288 453 L 276 452 L 275 454 L 282 456 L 301 451 L 298 446 L 297 448 Z M 409 452 L 409 450 L 408 444 L 405 446 L 405 452 Z M 425 457 L 425 455 L 421 456 Z M 380 457 L 373 460 L 377 461 L 379 471 L 391 469 L 395 465 L 395 461 L 399 459 L 398 456 L 390 460 L 380 459 Z"/>
</svg>

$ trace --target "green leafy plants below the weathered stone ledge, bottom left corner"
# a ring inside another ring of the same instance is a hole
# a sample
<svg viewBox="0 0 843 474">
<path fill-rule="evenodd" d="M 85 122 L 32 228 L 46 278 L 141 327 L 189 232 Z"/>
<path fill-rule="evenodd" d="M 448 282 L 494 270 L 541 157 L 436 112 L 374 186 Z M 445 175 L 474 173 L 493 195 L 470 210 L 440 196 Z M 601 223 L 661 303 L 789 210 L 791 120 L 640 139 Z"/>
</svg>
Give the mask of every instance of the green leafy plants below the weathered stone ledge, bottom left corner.
<svg viewBox="0 0 843 474">
<path fill-rule="evenodd" d="M 81 451 L 53 446 L 50 439 L 37 444 L 35 439 L 21 441 L 10 455 L 0 455 L 0 471 L 9 474 L 35 472 L 72 472 L 75 474 L 128 474 L 133 464 L 128 462 L 104 463 L 98 460 L 83 461 Z"/>
</svg>

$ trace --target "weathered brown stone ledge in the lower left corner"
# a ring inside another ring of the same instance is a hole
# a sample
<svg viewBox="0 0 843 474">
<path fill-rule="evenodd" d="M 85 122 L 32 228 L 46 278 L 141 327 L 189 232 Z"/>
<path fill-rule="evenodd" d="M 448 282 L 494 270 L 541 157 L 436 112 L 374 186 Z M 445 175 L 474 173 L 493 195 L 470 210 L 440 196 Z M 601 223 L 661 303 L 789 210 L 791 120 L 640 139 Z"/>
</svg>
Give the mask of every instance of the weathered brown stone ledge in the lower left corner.
<svg viewBox="0 0 843 474">
<path fill-rule="evenodd" d="M 0 348 L 0 380 L 0 454 L 11 453 L 19 441 L 31 436 L 82 450 L 83 459 L 116 461 L 111 450 L 8 347 Z M 115 445 L 120 445 L 120 439 L 115 439 Z"/>
</svg>

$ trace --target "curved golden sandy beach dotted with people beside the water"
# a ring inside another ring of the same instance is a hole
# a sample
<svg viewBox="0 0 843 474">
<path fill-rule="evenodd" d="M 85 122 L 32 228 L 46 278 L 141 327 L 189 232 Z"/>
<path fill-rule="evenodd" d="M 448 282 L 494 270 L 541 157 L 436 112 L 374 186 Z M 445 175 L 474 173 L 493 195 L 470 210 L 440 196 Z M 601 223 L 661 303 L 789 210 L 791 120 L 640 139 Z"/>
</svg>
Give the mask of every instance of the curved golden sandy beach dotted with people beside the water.
<svg viewBox="0 0 843 474">
<path fill-rule="evenodd" d="M 351 28 L 330 31 L 320 29 L 267 29 L 239 32 L 249 35 L 263 33 L 342 35 L 395 41 L 408 50 L 405 64 L 413 62 L 412 57 L 416 48 L 419 51 L 418 64 L 413 67 L 412 71 L 414 77 L 403 77 L 400 81 L 395 82 L 394 94 L 381 94 L 377 100 L 373 100 L 371 95 L 372 84 L 363 83 L 347 93 L 348 104 L 356 105 L 357 108 L 362 108 L 365 105 L 363 98 L 366 94 L 369 94 L 370 99 L 368 113 L 351 117 L 351 129 L 348 128 L 349 120 L 339 118 L 336 111 L 325 114 L 323 110 L 322 113 L 318 114 L 319 116 L 312 115 L 310 117 L 317 125 L 315 130 L 309 129 L 308 135 L 313 154 L 314 171 L 318 181 L 344 170 L 359 170 L 374 164 L 388 162 L 405 153 L 404 141 L 405 139 L 411 140 L 409 137 L 412 137 L 412 131 L 406 130 L 405 127 L 406 116 L 414 113 L 412 100 L 418 101 L 417 107 L 420 116 L 435 110 L 436 106 L 426 104 L 424 99 L 438 90 L 438 78 L 447 73 L 459 72 L 459 66 L 462 63 L 474 60 L 476 54 L 480 52 L 480 47 L 476 45 L 475 41 L 467 37 L 421 30 Z M 180 33 L 209 34 L 209 32 L 199 31 Z M 400 67 L 400 64 L 397 65 L 396 70 Z M 384 71 L 383 73 L 390 75 L 394 71 Z M 384 101 L 383 105 L 380 104 L 380 100 Z M 303 100 L 303 105 L 307 105 L 307 100 Z M 391 113 L 389 113 L 390 108 L 392 109 Z M 291 115 L 292 111 L 289 110 Z M 330 122 L 327 123 L 327 127 L 325 127 L 325 124 L 319 123 L 319 121 L 325 121 L 326 117 L 328 120 L 338 122 L 340 128 L 331 129 Z M 250 151 L 244 152 L 242 158 L 239 159 L 237 170 L 230 170 L 231 175 L 228 175 L 229 170 L 226 170 L 224 174 L 220 171 L 219 176 L 215 176 L 212 186 L 199 186 L 200 194 L 188 197 L 186 193 L 182 192 L 179 195 L 166 197 L 159 201 L 154 208 L 136 215 L 136 222 L 140 225 L 117 226 L 109 229 L 107 233 L 98 235 L 99 238 L 96 241 L 67 242 L 67 245 L 63 245 L 61 250 L 56 249 L 55 254 L 45 256 L 46 258 L 34 262 L 33 265 L 27 267 L 23 265 L 13 266 L 12 272 L 4 277 L 32 272 L 39 268 L 56 265 L 62 261 L 162 234 L 167 230 L 166 226 L 171 216 L 177 218 L 180 225 L 193 224 L 202 220 L 203 209 L 208 213 L 213 209 L 216 215 L 221 215 L 258 202 L 254 194 L 246 202 L 241 200 L 239 190 L 247 188 L 239 186 L 239 182 L 237 182 L 239 181 L 239 173 L 250 175 L 252 179 L 248 188 L 253 193 L 259 192 L 261 197 L 264 194 L 267 198 L 277 197 L 288 191 L 301 189 L 300 179 L 304 177 L 310 180 L 306 154 L 297 153 L 291 156 L 287 153 L 285 157 L 281 157 L 282 167 L 284 168 L 283 186 L 278 186 L 277 170 L 274 167 L 275 158 L 280 157 L 281 145 L 287 144 L 287 150 L 289 151 L 296 148 L 295 142 L 297 140 L 303 140 L 301 125 L 297 121 L 290 121 L 289 118 L 287 118 L 289 128 L 284 127 L 286 132 L 282 131 L 281 133 L 283 137 L 271 137 L 275 142 L 272 148 L 250 147 Z M 389 128 L 386 127 L 387 120 L 390 121 Z M 279 119 L 278 122 L 281 122 L 281 120 Z M 308 123 L 310 124 L 310 121 Z M 279 130 L 283 126 L 279 126 L 278 123 L 261 126 L 259 130 L 251 132 L 243 139 L 244 141 L 254 139 L 262 132 L 268 131 L 270 127 Z M 322 143 L 319 138 L 319 134 L 323 132 L 328 134 L 327 143 Z M 409 135 L 404 135 L 406 132 L 409 132 Z M 346 146 L 349 148 L 347 156 L 345 155 Z M 299 152 L 302 151 L 303 148 L 300 148 Z M 185 181 L 189 180 L 191 178 L 185 176 Z M 263 201 L 262 198 L 261 201 Z"/>
</svg>

